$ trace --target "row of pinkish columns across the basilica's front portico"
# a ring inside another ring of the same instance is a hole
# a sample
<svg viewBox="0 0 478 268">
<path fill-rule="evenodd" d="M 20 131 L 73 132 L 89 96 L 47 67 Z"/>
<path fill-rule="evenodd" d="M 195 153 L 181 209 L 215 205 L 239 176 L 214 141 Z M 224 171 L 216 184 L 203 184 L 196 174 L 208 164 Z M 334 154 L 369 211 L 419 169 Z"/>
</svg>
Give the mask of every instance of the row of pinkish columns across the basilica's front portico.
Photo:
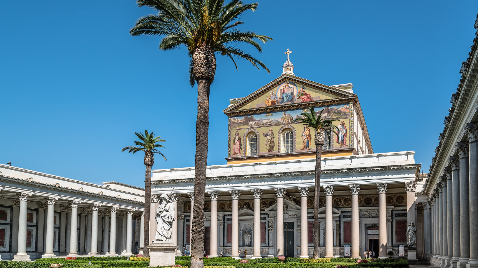
<svg viewBox="0 0 478 268">
<path fill-rule="evenodd" d="M 387 208 L 386 208 L 386 199 L 385 195 L 387 192 L 387 183 L 377 183 L 376 184 L 378 193 L 379 193 L 379 258 L 387 258 Z M 408 182 L 407 185 L 407 193 L 408 193 L 408 221 L 415 222 L 415 189 L 416 183 L 415 182 Z M 351 193 L 351 200 L 352 200 L 352 223 L 351 223 L 351 258 L 360 258 L 360 245 L 359 245 L 359 191 L 360 185 L 359 184 L 351 184 L 349 185 L 350 193 Z M 334 192 L 334 186 L 323 186 L 324 193 L 326 196 L 326 258 L 333 258 L 333 211 L 332 211 L 332 196 Z M 300 243 L 300 257 L 307 258 L 309 256 L 307 250 L 307 196 L 308 196 L 308 187 L 298 187 L 301 196 L 301 214 L 300 214 L 300 222 L 301 222 L 301 243 Z M 284 245 L 283 245 L 283 221 L 284 221 L 284 214 L 283 214 L 283 198 L 286 195 L 285 188 L 274 188 L 277 198 L 277 211 L 276 211 L 276 256 L 284 256 Z M 253 235 L 253 254 L 252 258 L 261 258 L 261 236 L 260 230 L 261 228 L 261 195 L 263 190 L 261 189 L 252 189 L 251 193 L 254 197 L 254 235 Z M 231 224 L 231 257 L 239 258 L 239 197 L 241 194 L 240 190 L 230 190 L 229 191 L 232 199 L 232 224 Z M 210 254 L 211 257 L 217 256 L 217 200 L 219 196 L 219 192 L 211 191 L 208 192 L 209 196 L 211 197 L 211 242 L 210 242 Z M 176 194 L 174 194 L 176 195 Z M 191 203 L 194 202 L 194 193 L 188 193 L 191 197 Z M 177 201 L 176 201 L 177 202 Z M 193 205 L 191 205 L 191 215 Z M 174 225 L 177 225 L 177 221 L 174 222 Z M 177 227 L 176 227 L 177 229 Z M 175 237 L 175 236 L 173 236 Z M 176 238 L 174 238 L 176 239 Z M 187 241 L 186 243 L 190 243 Z"/>
</svg>

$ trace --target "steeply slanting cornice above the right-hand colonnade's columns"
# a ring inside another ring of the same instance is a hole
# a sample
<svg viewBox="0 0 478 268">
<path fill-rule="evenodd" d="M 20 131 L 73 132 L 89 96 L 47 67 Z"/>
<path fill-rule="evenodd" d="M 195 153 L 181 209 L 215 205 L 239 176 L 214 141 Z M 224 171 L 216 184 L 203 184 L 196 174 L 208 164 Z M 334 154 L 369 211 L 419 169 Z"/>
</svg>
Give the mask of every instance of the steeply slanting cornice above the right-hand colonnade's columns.
<svg viewBox="0 0 478 268">
<path fill-rule="evenodd" d="M 428 176 L 430 182 L 427 182 L 424 189 L 426 195 L 430 195 L 433 191 L 433 187 L 442 173 L 441 166 L 444 164 L 444 161 L 448 161 L 447 156 L 453 155 L 453 152 L 451 155 L 447 155 L 447 149 L 449 149 L 447 146 L 454 146 L 455 144 L 452 144 L 453 139 L 456 138 L 456 136 L 462 135 L 461 126 L 464 120 L 463 115 L 467 112 L 467 108 L 469 109 L 471 105 L 474 104 L 470 103 L 470 99 L 476 91 L 478 78 L 478 72 L 476 71 L 478 69 L 478 31 L 475 33 L 475 36 L 477 36 L 477 38 L 473 39 L 473 45 L 470 48 L 471 51 L 468 53 L 467 61 L 463 62 L 462 69 L 460 70 L 460 72 L 462 72 L 460 83 L 450 101 L 452 107 L 449 109 L 450 113 L 448 117 L 445 118 L 445 127 L 440 134 L 439 143 L 435 149 L 435 161 L 430 165 Z"/>
</svg>

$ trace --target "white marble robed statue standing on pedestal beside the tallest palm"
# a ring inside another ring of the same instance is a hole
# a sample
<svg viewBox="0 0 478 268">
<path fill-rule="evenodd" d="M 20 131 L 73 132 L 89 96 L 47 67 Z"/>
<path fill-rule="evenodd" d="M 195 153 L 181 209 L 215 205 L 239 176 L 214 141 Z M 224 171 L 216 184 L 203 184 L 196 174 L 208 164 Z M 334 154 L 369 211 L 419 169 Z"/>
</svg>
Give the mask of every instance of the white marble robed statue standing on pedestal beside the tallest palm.
<svg viewBox="0 0 478 268">
<path fill-rule="evenodd" d="M 161 203 L 156 209 L 156 240 L 172 241 L 173 233 L 174 205 L 166 194 L 160 196 Z"/>
</svg>

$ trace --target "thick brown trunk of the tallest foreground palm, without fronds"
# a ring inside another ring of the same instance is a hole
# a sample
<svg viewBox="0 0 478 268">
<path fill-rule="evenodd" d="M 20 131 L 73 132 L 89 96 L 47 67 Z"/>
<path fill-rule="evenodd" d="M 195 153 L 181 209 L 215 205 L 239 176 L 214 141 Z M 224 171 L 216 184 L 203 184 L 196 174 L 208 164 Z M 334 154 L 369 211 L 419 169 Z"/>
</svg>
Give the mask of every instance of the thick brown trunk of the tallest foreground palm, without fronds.
<svg viewBox="0 0 478 268">
<path fill-rule="evenodd" d="M 214 51 L 206 44 L 193 53 L 193 75 L 197 82 L 196 163 L 194 207 L 191 222 L 191 268 L 204 268 L 204 194 L 206 192 L 207 133 L 209 131 L 209 87 L 216 74 Z"/>
</svg>

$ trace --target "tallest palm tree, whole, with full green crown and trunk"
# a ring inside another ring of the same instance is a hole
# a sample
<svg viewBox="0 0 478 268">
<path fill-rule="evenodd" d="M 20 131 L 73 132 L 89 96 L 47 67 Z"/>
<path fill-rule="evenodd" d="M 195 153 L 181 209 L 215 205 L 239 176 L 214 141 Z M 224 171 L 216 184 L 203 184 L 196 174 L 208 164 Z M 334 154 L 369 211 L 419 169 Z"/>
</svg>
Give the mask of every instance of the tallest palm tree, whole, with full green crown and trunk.
<svg viewBox="0 0 478 268">
<path fill-rule="evenodd" d="M 164 36 L 159 48 L 176 49 L 185 46 L 189 61 L 189 82 L 197 82 L 196 163 L 194 175 L 194 208 L 191 225 L 191 268 L 203 268 L 204 195 L 206 190 L 207 132 L 209 128 L 209 87 L 216 74 L 216 55 L 246 59 L 267 72 L 266 65 L 236 46 L 245 42 L 259 52 L 256 39 L 267 42 L 272 38 L 254 31 L 240 31 L 239 16 L 246 10 L 256 10 L 258 3 L 244 4 L 240 0 L 137 0 L 138 6 L 148 6 L 157 14 L 141 17 L 130 33 Z M 237 65 L 236 65 L 237 69 Z"/>
</svg>

